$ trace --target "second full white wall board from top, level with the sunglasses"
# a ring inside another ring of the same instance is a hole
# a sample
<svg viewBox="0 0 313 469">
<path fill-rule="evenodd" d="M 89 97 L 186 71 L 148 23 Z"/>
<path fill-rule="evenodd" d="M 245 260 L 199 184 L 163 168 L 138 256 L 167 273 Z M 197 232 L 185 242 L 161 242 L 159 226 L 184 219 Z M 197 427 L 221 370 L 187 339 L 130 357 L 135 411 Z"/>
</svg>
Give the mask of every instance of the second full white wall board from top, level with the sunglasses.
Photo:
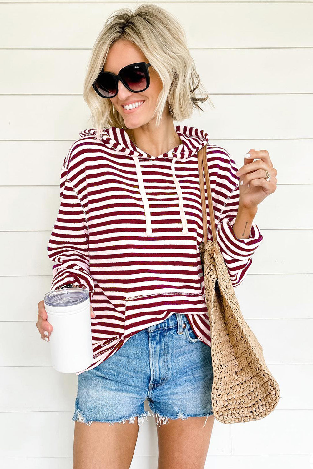
<svg viewBox="0 0 313 469">
<path fill-rule="evenodd" d="M 201 48 L 190 53 L 210 95 L 313 91 L 313 49 Z M 0 94 L 82 94 L 90 54 L 88 49 L 0 50 Z"/>
</svg>

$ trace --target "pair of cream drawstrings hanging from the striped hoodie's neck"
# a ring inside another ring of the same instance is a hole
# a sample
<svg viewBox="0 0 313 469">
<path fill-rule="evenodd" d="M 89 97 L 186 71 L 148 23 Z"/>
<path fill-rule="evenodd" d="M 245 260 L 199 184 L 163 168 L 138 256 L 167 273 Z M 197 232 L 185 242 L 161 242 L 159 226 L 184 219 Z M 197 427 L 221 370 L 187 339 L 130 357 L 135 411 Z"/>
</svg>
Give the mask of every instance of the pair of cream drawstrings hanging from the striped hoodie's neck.
<svg viewBox="0 0 313 469">
<path fill-rule="evenodd" d="M 151 226 L 151 212 L 150 212 L 148 197 L 147 197 L 146 192 L 145 192 L 145 184 L 144 184 L 144 180 L 143 180 L 143 177 L 142 177 L 141 166 L 140 166 L 140 162 L 139 162 L 139 159 L 138 159 L 137 155 L 132 155 L 132 157 L 135 161 L 138 186 L 139 186 L 141 198 L 142 198 L 142 201 L 144 203 L 144 208 L 145 208 L 145 224 L 146 224 L 145 233 L 148 234 L 148 235 L 151 235 L 151 234 L 153 234 L 152 226 Z M 189 233 L 189 231 L 188 231 L 188 226 L 187 226 L 186 215 L 185 215 L 185 212 L 184 212 L 184 209 L 183 209 L 183 193 L 182 193 L 182 189 L 179 185 L 179 182 L 178 182 L 178 180 L 176 178 L 176 174 L 175 174 L 175 161 L 176 161 L 176 159 L 177 158 L 172 159 L 171 167 L 172 167 L 173 179 L 174 179 L 177 194 L 178 194 L 178 206 L 179 206 L 180 218 L 181 218 L 182 224 L 183 224 L 182 234 L 187 234 L 187 233 Z"/>
</svg>

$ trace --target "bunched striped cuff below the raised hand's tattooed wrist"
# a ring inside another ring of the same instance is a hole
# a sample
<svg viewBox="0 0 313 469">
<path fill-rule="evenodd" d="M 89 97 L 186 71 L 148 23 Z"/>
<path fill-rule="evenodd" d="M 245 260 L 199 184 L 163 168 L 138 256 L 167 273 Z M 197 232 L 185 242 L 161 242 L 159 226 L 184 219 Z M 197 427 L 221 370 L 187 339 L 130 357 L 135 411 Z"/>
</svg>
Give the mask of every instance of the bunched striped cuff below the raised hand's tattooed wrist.
<svg viewBox="0 0 313 469">
<path fill-rule="evenodd" d="M 249 238 L 238 239 L 233 231 L 236 217 L 221 220 L 216 229 L 217 237 L 229 259 L 248 259 L 262 242 L 263 235 L 259 227 L 252 223 Z"/>
</svg>

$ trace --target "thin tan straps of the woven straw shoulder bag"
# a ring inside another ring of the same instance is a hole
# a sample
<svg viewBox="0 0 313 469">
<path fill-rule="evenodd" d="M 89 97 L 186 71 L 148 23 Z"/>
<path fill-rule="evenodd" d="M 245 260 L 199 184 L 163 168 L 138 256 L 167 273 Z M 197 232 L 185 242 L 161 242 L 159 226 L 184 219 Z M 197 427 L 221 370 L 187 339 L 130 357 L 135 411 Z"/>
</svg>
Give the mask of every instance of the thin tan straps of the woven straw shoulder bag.
<svg viewBox="0 0 313 469">
<path fill-rule="evenodd" d="M 207 218 L 206 218 L 206 193 L 204 188 L 203 180 L 203 166 L 206 177 L 206 190 L 209 203 L 209 212 L 210 212 L 210 223 L 213 241 L 216 241 L 216 228 L 214 220 L 214 210 L 213 210 L 213 201 L 211 194 L 211 186 L 209 179 L 209 170 L 207 167 L 207 157 L 206 157 L 206 145 L 198 151 L 198 171 L 199 171 L 199 180 L 200 180 L 200 192 L 201 192 L 201 204 L 202 204 L 202 219 L 203 219 L 203 234 L 204 234 L 204 243 L 207 242 Z"/>
</svg>

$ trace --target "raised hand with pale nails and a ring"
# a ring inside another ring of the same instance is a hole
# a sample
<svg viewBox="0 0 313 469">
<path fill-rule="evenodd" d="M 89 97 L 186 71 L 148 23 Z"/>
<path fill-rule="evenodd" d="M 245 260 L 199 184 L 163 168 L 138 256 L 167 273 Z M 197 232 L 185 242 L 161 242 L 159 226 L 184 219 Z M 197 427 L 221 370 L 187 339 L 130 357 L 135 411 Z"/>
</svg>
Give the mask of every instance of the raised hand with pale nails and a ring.
<svg viewBox="0 0 313 469">
<path fill-rule="evenodd" d="M 253 209 L 257 208 L 265 197 L 275 192 L 277 170 L 273 167 L 267 150 L 257 151 L 252 148 L 249 153 L 250 157 L 244 155 L 244 166 L 238 169 L 236 175 L 240 176 L 239 205 Z M 266 171 L 271 175 L 269 181 L 266 181 Z"/>
</svg>

